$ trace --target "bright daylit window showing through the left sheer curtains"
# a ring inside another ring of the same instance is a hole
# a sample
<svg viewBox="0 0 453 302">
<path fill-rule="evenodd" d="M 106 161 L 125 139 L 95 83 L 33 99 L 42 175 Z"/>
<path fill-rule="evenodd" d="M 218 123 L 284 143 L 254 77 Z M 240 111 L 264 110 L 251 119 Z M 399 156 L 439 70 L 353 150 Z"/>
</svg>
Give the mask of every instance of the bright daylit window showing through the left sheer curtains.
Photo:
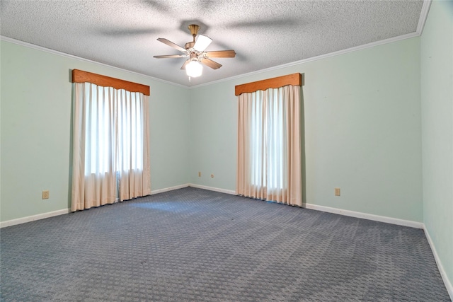
<svg viewBox="0 0 453 302">
<path fill-rule="evenodd" d="M 85 173 L 107 173 L 113 156 L 116 172 L 143 169 L 143 112 L 139 93 L 84 83 L 87 103 Z M 117 129 L 116 129 L 117 128 Z M 112 131 L 112 132 L 111 132 Z M 110 136 L 110 133 L 115 135 Z M 114 156 L 110 149 L 117 152 Z"/>
</svg>

